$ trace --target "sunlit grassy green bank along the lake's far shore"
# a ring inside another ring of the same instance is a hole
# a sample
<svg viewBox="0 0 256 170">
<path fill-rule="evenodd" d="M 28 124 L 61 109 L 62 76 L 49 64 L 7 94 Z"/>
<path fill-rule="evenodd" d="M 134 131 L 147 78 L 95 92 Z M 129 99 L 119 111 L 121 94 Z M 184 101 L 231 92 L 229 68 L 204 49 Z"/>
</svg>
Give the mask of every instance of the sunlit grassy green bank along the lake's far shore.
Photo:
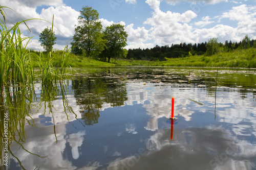
<svg viewBox="0 0 256 170">
<path fill-rule="evenodd" d="M 53 55 L 52 64 L 60 66 L 60 55 Z M 190 67 L 243 67 L 256 68 L 256 48 L 222 52 L 212 56 L 190 56 L 183 58 L 169 58 L 166 61 L 144 61 L 112 59 L 110 63 L 92 58 L 81 58 L 72 55 L 67 64 L 74 66 L 190 66 Z"/>
</svg>

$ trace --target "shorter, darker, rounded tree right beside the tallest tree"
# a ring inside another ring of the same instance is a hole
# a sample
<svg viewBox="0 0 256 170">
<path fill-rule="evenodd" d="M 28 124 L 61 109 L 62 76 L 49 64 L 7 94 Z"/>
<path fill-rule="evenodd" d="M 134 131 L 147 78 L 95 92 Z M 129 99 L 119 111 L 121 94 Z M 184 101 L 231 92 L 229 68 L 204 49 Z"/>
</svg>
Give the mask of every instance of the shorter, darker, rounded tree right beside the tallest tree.
<svg viewBox="0 0 256 170">
<path fill-rule="evenodd" d="M 128 34 L 124 31 L 124 27 L 120 23 L 113 23 L 111 26 L 106 27 L 103 35 L 106 40 L 105 49 L 103 51 L 104 60 L 108 58 L 108 62 L 110 62 L 111 57 L 123 57 L 124 51 L 123 47 L 127 44 Z"/>
</svg>

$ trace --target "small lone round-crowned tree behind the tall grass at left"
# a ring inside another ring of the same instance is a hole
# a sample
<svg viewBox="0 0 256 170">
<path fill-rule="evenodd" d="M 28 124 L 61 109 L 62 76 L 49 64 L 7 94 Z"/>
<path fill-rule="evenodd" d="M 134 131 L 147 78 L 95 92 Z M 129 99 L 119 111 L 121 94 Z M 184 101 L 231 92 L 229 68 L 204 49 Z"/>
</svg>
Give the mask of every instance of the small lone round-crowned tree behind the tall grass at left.
<svg viewBox="0 0 256 170">
<path fill-rule="evenodd" d="M 41 46 L 44 47 L 44 49 L 47 52 L 51 52 L 53 45 L 56 43 L 56 37 L 54 31 L 50 28 L 46 28 L 44 31 L 42 31 L 39 35 L 39 41 L 41 42 Z"/>
</svg>

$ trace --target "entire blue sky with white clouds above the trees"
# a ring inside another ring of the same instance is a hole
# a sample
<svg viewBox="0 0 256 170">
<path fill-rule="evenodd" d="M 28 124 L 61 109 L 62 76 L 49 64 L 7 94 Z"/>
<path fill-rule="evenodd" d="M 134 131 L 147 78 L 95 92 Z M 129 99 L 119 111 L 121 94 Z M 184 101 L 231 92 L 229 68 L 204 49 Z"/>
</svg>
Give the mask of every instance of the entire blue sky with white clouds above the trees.
<svg viewBox="0 0 256 170">
<path fill-rule="evenodd" d="M 62 49 L 74 34 L 74 26 L 82 6 L 91 6 L 99 13 L 103 27 L 122 23 L 129 37 L 125 48 L 151 48 L 172 43 L 201 43 L 209 38 L 240 41 L 248 34 L 256 39 L 255 0 L 0 0 L 23 18 L 52 20 L 54 14 L 55 48 Z M 8 20 L 17 15 L 6 10 Z M 28 22 L 33 33 L 21 26 L 24 36 L 34 36 L 30 48 L 42 50 L 39 34 L 50 23 Z"/>
</svg>

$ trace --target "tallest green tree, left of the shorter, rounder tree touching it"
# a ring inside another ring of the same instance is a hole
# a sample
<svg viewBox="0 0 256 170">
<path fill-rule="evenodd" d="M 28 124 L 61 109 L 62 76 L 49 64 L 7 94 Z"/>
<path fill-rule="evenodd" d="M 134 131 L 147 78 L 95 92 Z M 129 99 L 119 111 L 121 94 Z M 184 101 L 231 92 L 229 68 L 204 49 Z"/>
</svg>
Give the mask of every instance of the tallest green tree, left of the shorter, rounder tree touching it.
<svg viewBox="0 0 256 170">
<path fill-rule="evenodd" d="M 97 57 L 104 50 L 105 41 L 102 39 L 102 25 L 99 13 L 92 7 L 83 7 L 78 17 L 78 25 L 75 26 L 72 52 L 85 54 L 87 57 Z"/>
</svg>

